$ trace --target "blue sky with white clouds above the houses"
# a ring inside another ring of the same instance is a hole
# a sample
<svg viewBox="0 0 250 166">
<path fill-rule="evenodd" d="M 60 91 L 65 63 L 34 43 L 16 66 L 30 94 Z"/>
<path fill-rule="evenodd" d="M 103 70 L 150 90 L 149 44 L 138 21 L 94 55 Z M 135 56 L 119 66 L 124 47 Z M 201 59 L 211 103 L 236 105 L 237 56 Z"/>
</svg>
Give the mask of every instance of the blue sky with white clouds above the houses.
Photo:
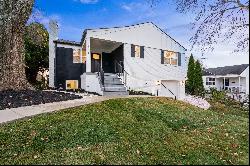
<svg viewBox="0 0 250 166">
<path fill-rule="evenodd" d="M 50 19 L 58 21 L 60 39 L 80 41 L 84 29 L 153 22 L 187 48 L 187 56 L 192 53 L 205 67 L 249 64 L 248 53 L 234 53 L 228 42 L 218 43 L 211 52 L 190 50 L 195 16 L 178 13 L 175 4 L 166 0 L 153 7 L 147 0 L 35 0 L 34 11 L 39 13 L 36 20 L 45 26 Z"/>
</svg>

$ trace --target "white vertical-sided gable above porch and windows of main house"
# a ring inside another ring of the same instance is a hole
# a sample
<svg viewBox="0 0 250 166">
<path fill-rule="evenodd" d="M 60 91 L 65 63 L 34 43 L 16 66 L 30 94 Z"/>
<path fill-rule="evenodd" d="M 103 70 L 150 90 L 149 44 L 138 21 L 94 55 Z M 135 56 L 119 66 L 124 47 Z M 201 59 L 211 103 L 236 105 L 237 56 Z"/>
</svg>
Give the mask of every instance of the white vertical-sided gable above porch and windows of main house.
<svg viewBox="0 0 250 166">
<path fill-rule="evenodd" d="M 87 37 L 185 53 L 185 48 L 152 23 L 88 30 Z"/>
</svg>

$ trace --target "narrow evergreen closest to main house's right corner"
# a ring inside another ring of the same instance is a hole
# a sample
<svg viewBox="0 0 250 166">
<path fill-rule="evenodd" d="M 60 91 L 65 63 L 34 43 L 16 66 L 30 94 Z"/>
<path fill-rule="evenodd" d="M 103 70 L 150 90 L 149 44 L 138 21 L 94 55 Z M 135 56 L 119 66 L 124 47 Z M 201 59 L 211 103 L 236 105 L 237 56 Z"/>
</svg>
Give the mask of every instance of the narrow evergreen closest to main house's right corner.
<svg viewBox="0 0 250 166">
<path fill-rule="evenodd" d="M 193 55 L 191 54 L 188 62 L 186 92 L 188 94 L 193 95 L 194 89 L 195 89 L 195 61 Z"/>
</svg>

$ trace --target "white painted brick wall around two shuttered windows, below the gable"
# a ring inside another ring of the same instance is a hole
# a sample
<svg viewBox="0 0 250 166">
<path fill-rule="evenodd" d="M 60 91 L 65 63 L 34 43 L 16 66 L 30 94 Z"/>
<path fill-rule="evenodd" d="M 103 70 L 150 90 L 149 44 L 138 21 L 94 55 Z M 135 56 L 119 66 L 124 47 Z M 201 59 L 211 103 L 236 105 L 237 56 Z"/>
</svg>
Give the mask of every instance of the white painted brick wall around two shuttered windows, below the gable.
<svg viewBox="0 0 250 166">
<path fill-rule="evenodd" d="M 185 87 L 180 86 L 180 82 L 184 81 L 186 77 L 184 56 L 182 66 L 165 65 L 161 64 L 161 50 L 145 47 L 144 58 L 137 58 L 131 57 L 131 45 L 124 44 L 124 68 L 129 74 L 127 87 L 131 90 L 145 91 L 155 95 L 158 89 L 159 94 L 164 95 L 157 81 L 174 80 L 176 87 L 179 88 L 175 95 L 177 98 L 184 97 Z M 169 95 L 166 93 L 164 96 Z"/>
</svg>

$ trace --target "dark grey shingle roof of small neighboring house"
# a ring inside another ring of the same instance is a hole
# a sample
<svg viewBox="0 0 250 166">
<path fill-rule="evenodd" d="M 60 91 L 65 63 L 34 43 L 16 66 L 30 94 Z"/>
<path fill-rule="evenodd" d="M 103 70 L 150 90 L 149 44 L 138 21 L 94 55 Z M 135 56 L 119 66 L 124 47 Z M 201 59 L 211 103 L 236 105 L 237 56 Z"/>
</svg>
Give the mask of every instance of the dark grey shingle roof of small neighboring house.
<svg viewBox="0 0 250 166">
<path fill-rule="evenodd" d="M 228 74 L 240 75 L 248 66 L 249 64 L 242 64 L 242 65 L 203 69 L 203 76 L 228 75 Z"/>
</svg>

